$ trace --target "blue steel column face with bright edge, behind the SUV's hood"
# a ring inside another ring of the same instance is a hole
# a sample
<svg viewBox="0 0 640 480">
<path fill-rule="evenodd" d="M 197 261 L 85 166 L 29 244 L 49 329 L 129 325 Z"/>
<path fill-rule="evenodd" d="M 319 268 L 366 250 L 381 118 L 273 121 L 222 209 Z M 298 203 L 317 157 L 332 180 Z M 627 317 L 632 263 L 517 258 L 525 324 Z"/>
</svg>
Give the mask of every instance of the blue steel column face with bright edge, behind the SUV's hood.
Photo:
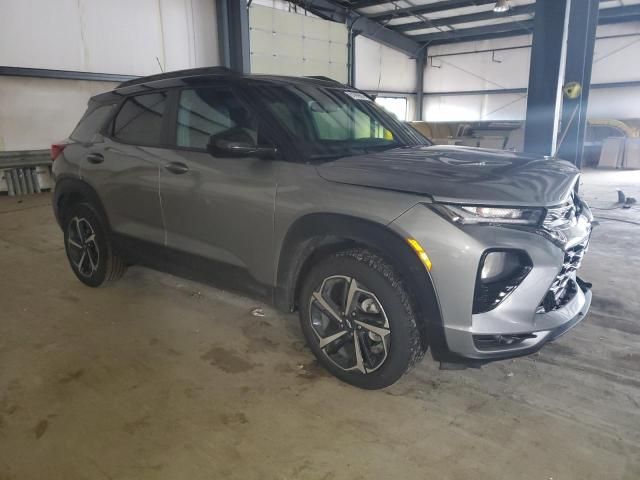
<svg viewBox="0 0 640 480">
<path fill-rule="evenodd" d="M 536 2 L 524 131 L 526 152 L 555 153 L 570 3 L 571 0 Z"/>
</svg>

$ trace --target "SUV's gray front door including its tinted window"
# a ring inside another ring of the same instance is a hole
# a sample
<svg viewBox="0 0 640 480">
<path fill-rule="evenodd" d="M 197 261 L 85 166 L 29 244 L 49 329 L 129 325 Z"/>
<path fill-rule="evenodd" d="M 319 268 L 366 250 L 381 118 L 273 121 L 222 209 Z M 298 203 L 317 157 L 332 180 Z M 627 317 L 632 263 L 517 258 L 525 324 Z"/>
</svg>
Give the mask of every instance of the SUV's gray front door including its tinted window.
<svg viewBox="0 0 640 480">
<path fill-rule="evenodd" d="M 162 170 L 167 245 L 272 281 L 278 161 L 210 153 L 211 137 L 271 144 L 264 125 L 228 85 L 177 92 L 171 162 Z"/>
</svg>

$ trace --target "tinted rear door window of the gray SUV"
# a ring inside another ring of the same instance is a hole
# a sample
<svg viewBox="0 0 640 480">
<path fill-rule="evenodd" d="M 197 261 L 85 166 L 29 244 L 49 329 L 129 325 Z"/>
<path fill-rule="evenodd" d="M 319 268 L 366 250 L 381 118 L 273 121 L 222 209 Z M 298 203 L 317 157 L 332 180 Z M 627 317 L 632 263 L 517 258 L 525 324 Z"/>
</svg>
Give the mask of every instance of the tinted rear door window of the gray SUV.
<svg viewBox="0 0 640 480">
<path fill-rule="evenodd" d="M 162 117 L 167 106 L 165 92 L 129 98 L 116 116 L 114 137 L 138 145 L 161 143 Z"/>
</svg>

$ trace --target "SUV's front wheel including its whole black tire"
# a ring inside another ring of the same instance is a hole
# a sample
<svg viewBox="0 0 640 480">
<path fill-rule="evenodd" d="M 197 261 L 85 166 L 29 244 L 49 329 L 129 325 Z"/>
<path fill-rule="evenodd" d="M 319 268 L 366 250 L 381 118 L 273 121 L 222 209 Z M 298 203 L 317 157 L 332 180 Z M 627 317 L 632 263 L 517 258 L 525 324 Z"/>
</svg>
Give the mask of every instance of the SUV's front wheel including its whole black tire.
<svg viewBox="0 0 640 480">
<path fill-rule="evenodd" d="M 357 299 L 349 302 L 353 280 L 356 281 L 354 291 L 360 293 L 352 295 L 351 298 Z M 341 286 L 341 282 L 344 285 Z M 362 290 L 357 290 L 360 288 Z M 341 291 L 335 294 L 336 289 Z M 345 292 L 345 289 L 349 292 Z M 323 297 L 324 304 L 320 303 L 318 295 Z M 340 301 L 332 302 L 331 295 L 344 297 L 345 300 L 339 305 Z M 330 305 L 327 304 L 327 299 Z M 425 354 L 415 309 L 406 286 L 387 261 L 367 249 L 356 248 L 336 253 L 316 264 L 304 279 L 299 300 L 300 323 L 307 344 L 320 364 L 346 383 L 369 390 L 388 387 Z M 362 302 L 354 308 L 353 304 L 360 300 Z M 369 305 L 365 302 L 369 302 Z M 332 323 L 336 317 L 327 314 L 327 306 L 334 310 L 334 314 L 340 307 L 346 307 L 342 308 L 348 310 L 346 315 L 339 312 L 342 323 L 338 320 Z M 371 312 L 374 313 L 365 312 L 363 306 L 373 309 Z M 363 328 L 362 321 L 356 325 L 358 318 L 366 320 L 369 327 Z M 387 329 L 380 328 L 384 327 L 385 322 L 388 325 L 386 336 L 384 332 Z M 380 335 L 370 333 L 371 325 L 378 327 Z M 351 333 L 341 334 L 342 330 L 349 330 Z M 341 336 L 325 345 L 324 349 L 321 348 L 321 337 L 326 341 L 337 335 Z M 371 335 L 375 337 L 375 341 Z M 356 338 L 358 346 L 355 345 Z M 349 342 L 354 342 L 353 347 Z M 340 349 L 337 348 L 339 344 L 343 344 Z M 365 355 L 367 345 L 371 351 Z M 377 350 L 374 351 L 373 347 Z M 359 367 L 358 350 L 361 357 Z M 353 351 L 351 357 L 355 360 L 355 369 L 348 362 L 349 351 Z M 345 367 L 352 370 L 348 371 Z"/>
</svg>

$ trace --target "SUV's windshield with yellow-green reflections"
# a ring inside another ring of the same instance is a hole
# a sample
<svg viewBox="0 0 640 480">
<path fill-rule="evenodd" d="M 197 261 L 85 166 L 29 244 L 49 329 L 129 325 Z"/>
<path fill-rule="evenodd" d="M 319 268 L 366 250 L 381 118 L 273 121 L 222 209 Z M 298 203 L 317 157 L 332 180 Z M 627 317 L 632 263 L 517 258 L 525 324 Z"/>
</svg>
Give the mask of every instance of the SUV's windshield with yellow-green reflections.
<svg viewBox="0 0 640 480">
<path fill-rule="evenodd" d="M 252 89 L 310 160 L 429 144 L 369 97 L 348 87 L 256 82 Z"/>
</svg>

